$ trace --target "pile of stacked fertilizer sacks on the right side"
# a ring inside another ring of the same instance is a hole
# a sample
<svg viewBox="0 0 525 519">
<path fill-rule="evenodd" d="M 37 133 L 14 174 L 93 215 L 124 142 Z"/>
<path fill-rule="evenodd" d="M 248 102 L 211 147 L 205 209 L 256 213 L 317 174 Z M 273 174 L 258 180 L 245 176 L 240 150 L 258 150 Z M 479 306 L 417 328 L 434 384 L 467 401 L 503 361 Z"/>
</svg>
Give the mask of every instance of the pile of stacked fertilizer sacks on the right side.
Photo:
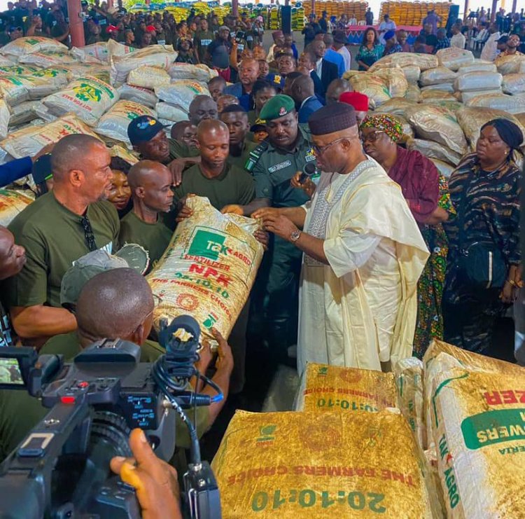
<svg viewBox="0 0 525 519">
<path fill-rule="evenodd" d="M 372 113 L 398 119 L 407 148 L 430 158 L 445 177 L 475 150 L 487 121 L 507 118 L 525 135 L 525 56 L 494 64 L 458 48 L 436 55 L 395 53 L 344 78 L 370 98 Z"/>
</svg>

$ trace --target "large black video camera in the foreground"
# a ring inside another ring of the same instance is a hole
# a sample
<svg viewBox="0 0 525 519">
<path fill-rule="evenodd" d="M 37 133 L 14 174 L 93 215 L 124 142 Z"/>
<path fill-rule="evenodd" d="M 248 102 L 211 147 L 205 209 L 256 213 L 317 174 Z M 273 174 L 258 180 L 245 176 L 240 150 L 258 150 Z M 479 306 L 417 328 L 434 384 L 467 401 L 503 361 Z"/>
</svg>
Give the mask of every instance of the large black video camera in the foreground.
<svg viewBox="0 0 525 519">
<path fill-rule="evenodd" d="M 171 459 L 177 413 L 192 442 L 183 511 L 220 519 L 214 474 L 200 459 L 195 427 L 183 411 L 223 398 L 194 367 L 199 340 L 197 321 L 182 316 L 169 326 L 162 322 L 166 353 L 153 364 L 139 362 L 140 347 L 120 339 L 94 342 L 72 364 L 63 364 L 61 355 L 38 357 L 29 347 L 1 348 L 0 389 L 27 389 L 51 410 L 0 465 L 0 516 L 140 518 L 134 489 L 111 476 L 109 462 L 132 456 L 127 440 L 135 427 L 144 429 L 158 457 Z M 193 376 L 216 396 L 188 389 Z"/>
</svg>

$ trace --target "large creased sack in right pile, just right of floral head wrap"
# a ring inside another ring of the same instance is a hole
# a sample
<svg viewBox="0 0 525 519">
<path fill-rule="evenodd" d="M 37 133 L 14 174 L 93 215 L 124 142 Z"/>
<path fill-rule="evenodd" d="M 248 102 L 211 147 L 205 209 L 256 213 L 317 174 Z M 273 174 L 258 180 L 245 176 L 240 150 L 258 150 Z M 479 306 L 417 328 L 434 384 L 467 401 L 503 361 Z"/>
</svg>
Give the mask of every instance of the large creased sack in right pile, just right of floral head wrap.
<svg viewBox="0 0 525 519">
<path fill-rule="evenodd" d="M 416 137 L 447 146 L 460 155 L 465 153 L 467 141 L 463 130 L 454 115 L 447 109 L 421 104 L 407 109 L 405 116 L 414 127 Z"/>
</svg>

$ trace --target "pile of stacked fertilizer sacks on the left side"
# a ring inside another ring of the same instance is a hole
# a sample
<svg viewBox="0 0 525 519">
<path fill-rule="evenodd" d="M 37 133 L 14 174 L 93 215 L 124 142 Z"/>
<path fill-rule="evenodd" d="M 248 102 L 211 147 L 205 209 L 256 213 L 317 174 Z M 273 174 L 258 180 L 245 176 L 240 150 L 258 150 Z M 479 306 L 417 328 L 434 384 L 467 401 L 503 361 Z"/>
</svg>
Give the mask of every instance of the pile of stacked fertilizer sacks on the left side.
<svg viewBox="0 0 525 519">
<path fill-rule="evenodd" d="M 71 50 L 40 37 L 3 46 L 0 163 L 35 155 L 73 133 L 90 134 L 117 154 L 127 153 L 128 162 L 137 160 L 127 137 L 130 120 L 159 117 L 169 132 L 188 119 L 195 95 L 209 95 L 206 84 L 216 72 L 175 64 L 176 56 L 171 47 L 137 50 L 111 40 Z M 17 184 L 31 187 L 31 178 Z M 26 191 L 1 191 L 1 224 L 30 202 Z"/>
</svg>

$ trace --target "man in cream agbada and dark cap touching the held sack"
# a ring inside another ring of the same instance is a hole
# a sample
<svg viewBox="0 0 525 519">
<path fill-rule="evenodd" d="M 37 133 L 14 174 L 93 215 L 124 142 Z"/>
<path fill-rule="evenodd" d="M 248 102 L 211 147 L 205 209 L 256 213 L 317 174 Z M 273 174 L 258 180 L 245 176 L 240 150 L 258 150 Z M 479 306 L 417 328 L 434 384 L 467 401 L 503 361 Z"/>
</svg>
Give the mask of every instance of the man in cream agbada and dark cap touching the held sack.
<svg viewBox="0 0 525 519">
<path fill-rule="evenodd" d="M 363 153 L 353 108 L 325 106 L 308 123 L 322 170 L 314 198 L 253 214 L 304 252 L 297 370 L 388 369 L 412 355 L 428 250 L 401 188 Z"/>
</svg>

